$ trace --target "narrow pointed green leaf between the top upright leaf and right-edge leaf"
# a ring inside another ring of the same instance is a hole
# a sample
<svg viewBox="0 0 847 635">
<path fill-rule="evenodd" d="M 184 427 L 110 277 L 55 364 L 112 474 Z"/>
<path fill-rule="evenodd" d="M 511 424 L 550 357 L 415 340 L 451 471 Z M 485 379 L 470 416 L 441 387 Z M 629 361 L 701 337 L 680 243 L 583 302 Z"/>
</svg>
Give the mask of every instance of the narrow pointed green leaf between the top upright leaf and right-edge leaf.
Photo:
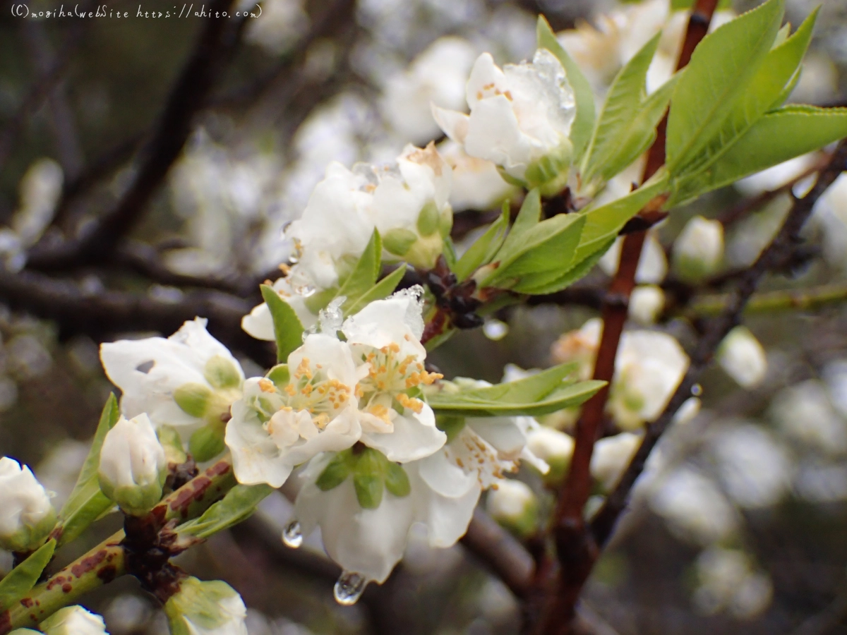
<svg viewBox="0 0 847 635">
<path fill-rule="evenodd" d="M 699 155 L 686 164 L 683 174 L 689 176 L 710 168 L 767 110 L 784 100 L 786 87 L 792 83 L 792 78 L 799 77 L 816 18 L 817 11 L 805 19 L 793 36 L 767 53 L 756 75 L 747 82 L 734 108 L 728 112 L 720 130 Z"/>
</svg>

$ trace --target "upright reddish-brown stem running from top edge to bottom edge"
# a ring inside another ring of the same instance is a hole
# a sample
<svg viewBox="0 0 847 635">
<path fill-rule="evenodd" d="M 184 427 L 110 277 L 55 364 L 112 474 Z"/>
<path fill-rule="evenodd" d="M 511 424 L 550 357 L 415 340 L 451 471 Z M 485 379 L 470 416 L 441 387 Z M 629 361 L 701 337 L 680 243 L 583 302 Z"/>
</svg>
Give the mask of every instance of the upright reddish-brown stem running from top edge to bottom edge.
<svg viewBox="0 0 847 635">
<path fill-rule="evenodd" d="M 689 63 L 691 53 L 709 30 L 711 16 L 716 8 L 717 0 L 698 0 L 695 3 L 677 69 L 682 69 Z M 656 174 L 665 162 L 666 128 L 667 115 L 656 129 L 656 141 L 647 154 L 642 182 Z M 591 454 L 601 431 L 603 411 L 606 409 L 609 386 L 612 384 L 615 370 L 617 347 L 627 318 L 629 295 L 635 286 L 635 271 L 644 246 L 646 227 L 662 218 L 663 203 L 664 199 L 650 202 L 639 214 L 645 229 L 629 233 L 624 238 L 620 265 L 603 304 L 603 334 L 597 352 L 594 378 L 608 384 L 586 402 L 583 408 L 582 417 L 577 423 L 571 467 L 556 502 L 552 532 L 556 543 L 558 573 L 554 580 L 542 578 L 543 575 L 550 575 L 546 572 L 555 570 L 555 567 L 548 563 L 546 566 L 540 566 L 539 579 L 536 580 L 536 586 L 547 596 L 542 600 L 539 632 L 548 635 L 573 631 L 573 618 L 579 594 L 599 555 L 599 547 L 586 527 L 583 516 L 585 503 L 590 495 Z"/>
</svg>

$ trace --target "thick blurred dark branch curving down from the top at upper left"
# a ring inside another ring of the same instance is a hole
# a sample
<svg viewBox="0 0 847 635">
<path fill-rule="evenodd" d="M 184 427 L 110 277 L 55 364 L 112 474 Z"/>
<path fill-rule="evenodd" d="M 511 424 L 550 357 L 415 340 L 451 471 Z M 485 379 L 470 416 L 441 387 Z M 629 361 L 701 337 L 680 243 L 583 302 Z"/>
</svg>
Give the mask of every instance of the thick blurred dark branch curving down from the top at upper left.
<svg viewBox="0 0 847 635">
<path fill-rule="evenodd" d="M 209 12 L 228 11 L 235 0 L 213 0 Z M 80 264 L 103 262 L 117 243 L 141 218 L 147 203 L 179 157 L 197 111 L 206 102 L 228 53 L 244 25 L 228 18 L 208 19 L 194 52 L 185 63 L 161 114 L 156 131 L 143 151 L 141 166 L 124 196 L 80 235 L 58 246 L 37 244 L 28 259 L 30 268 L 64 270 Z"/>
</svg>

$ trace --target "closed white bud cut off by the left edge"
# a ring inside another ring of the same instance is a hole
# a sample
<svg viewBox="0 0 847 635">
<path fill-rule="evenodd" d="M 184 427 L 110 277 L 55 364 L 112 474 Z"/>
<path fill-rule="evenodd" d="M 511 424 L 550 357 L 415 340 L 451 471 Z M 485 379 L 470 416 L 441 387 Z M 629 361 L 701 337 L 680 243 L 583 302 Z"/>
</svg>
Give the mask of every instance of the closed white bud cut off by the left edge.
<svg viewBox="0 0 847 635">
<path fill-rule="evenodd" d="M 0 459 L 0 547 L 9 551 L 35 548 L 56 524 L 50 497 L 29 467 Z"/>
</svg>

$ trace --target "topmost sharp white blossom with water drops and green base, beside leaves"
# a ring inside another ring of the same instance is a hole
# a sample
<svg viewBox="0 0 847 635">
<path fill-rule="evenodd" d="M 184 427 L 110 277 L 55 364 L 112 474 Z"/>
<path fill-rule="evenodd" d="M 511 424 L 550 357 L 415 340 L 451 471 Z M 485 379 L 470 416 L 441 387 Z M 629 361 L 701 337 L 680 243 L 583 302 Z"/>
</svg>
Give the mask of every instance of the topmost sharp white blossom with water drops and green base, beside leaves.
<svg viewBox="0 0 847 635">
<path fill-rule="evenodd" d="M 576 113 L 565 69 L 547 49 L 531 63 L 499 69 L 489 53 L 477 58 L 466 90 L 470 114 L 433 108 L 435 120 L 472 157 L 499 165 L 522 184 L 561 189 L 573 146 Z"/>
</svg>

